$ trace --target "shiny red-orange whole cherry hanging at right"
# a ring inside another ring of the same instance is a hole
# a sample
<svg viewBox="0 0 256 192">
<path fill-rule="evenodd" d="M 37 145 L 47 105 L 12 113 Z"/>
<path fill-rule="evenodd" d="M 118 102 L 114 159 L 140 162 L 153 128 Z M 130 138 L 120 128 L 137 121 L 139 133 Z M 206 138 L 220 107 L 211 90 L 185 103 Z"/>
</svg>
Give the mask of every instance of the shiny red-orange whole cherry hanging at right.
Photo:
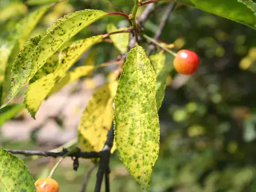
<svg viewBox="0 0 256 192">
<path fill-rule="evenodd" d="M 189 50 L 178 51 L 176 57 L 174 58 L 173 65 L 174 68 L 181 74 L 191 75 L 195 73 L 199 64 L 198 55 Z"/>
</svg>

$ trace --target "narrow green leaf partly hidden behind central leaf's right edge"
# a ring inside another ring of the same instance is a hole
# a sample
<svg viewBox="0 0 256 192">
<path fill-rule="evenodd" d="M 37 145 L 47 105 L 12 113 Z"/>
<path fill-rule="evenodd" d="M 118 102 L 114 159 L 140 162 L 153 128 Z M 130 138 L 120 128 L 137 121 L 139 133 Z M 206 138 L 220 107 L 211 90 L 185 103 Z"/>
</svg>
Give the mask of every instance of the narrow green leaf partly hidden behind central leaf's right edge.
<svg viewBox="0 0 256 192">
<path fill-rule="evenodd" d="M 164 99 L 168 75 L 165 68 L 165 54 L 160 52 L 155 55 L 151 55 L 150 59 L 156 70 L 156 106 L 159 110 Z"/>
</svg>

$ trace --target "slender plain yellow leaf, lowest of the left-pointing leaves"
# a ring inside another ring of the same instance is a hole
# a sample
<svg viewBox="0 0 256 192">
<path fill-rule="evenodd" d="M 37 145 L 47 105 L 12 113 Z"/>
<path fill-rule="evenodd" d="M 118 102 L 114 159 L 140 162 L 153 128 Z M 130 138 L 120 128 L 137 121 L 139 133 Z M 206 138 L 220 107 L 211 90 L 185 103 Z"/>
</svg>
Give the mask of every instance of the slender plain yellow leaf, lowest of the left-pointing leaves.
<svg viewBox="0 0 256 192">
<path fill-rule="evenodd" d="M 64 87 L 69 83 L 74 82 L 76 79 L 90 74 L 93 69 L 94 69 L 94 66 L 81 66 L 81 67 L 76 67 L 74 70 L 66 73 L 66 75 L 61 79 L 61 81 L 59 81 L 52 87 L 47 97 L 50 97 L 50 95 L 58 92 L 59 90 L 62 89 L 62 87 Z"/>
</svg>

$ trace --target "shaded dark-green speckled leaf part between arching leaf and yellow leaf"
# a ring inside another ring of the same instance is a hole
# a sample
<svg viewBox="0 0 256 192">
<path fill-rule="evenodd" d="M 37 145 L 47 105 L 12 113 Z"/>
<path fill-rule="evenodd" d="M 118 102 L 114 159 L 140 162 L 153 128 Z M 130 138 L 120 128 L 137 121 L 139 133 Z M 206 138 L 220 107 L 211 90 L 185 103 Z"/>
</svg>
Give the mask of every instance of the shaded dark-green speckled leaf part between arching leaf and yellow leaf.
<svg viewBox="0 0 256 192">
<path fill-rule="evenodd" d="M 53 54 L 52 57 L 50 57 L 43 67 L 41 67 L 36 74 L 30 79 L 29 83 L 34 83 L 38 79 L 41 79 L 42 77 L 53 73 L 57 67 L 58 67 L 58 61 L 59 61 L 59 55 Z"/>
</svg>

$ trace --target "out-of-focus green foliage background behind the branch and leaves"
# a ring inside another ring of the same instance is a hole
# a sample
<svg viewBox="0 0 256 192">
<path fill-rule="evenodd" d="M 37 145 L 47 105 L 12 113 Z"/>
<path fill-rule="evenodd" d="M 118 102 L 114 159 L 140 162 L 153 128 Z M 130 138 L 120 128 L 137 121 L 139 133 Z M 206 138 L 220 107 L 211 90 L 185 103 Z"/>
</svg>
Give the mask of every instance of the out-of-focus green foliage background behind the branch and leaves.
<svg viewBox="0 0 256 192">
<path fill-rule="evenodd" d="M 53 21 L 69 12 L 82 9 L 115 11 L 107 2 L 62 2 L 45 15 L 31 36 L 42 33 Z M 111 2 L 125 13 L 131 12 L 133 1 Z M 156 4 L 154 12 L 145 22 L 143 30 L 149 36 L 154 36 L 167 4 Z M 15 23 L 36 9 L 36 6 L 27 5 L 23 1 L 1 0 L 0 7 L 1 45 Z M 139 13 L 142 11 L 140 9 Z M 118 27 L 129 26 L 122 17 L 111 16 L 93 23 L 73 40 L 104 34 L 110 22 Z M 170 77 L 159 111 L 161 146 L 151 177 L 150 191 L 256 191 L 255 32 L 239 23 L 192 7 L 178 6 L 170 14 L 160 37 L 161 41 L 174 43 L 175 51 L 196 51 L 201 63 L 193 76 L 177 75 L 172 68 L 173 58 L 166 54 Z M 143 39 L 141 44 L 147 46 Z M 113 45 L 106 42 L 94 46 L 92 51 L 96 56 L 89 60 L 93 60 L 95 65 L 115 60 L 119 54 Z M 83 62 L 84 58 L 76 66 L 83 65 Z M 107 75 L 109 70 L 99 69 L 94 74 Z M 92 81 L 87 79 L 87 85 L 94 87 L 97 84 L 95 81 L 97 80 L 93 78 Z M 20 102 L 20 98 L 17 102 Z M 22 121 L 24 113 L 10 121 Z M 53 118 L 60 125 L 59 129 L 65 129 L 61 126 L 62 118 L 58 115 Z M 10 129 L 15 131 L 17 127 Z M 10 149 L 50 150 L 60 144 L 50 145 L 45 141 L 38 145 L 36 133 L 37 130 L 33 130 L 28 132 L 29 139 L 16 141 L 5 138 L 0 128 L 0 146 Z M 47 175 L 54 163 L 47 158 L 37 161 L 21 158 L 35 178 Z M 72 161 L 67 159 L 57 170 L 54 178 L 60 183 L 61 192 L 80 190 L 90 162 L 81 161 L 80 164 L 78 172 L 75 172 L 72 170 Z M 119 161 L 117 152 L 111 157 L 111 171 L 111 191 L 141 191 Z M 94 170 L 88 191 L 93 191 L 96 172 Z"/>
</svg>

